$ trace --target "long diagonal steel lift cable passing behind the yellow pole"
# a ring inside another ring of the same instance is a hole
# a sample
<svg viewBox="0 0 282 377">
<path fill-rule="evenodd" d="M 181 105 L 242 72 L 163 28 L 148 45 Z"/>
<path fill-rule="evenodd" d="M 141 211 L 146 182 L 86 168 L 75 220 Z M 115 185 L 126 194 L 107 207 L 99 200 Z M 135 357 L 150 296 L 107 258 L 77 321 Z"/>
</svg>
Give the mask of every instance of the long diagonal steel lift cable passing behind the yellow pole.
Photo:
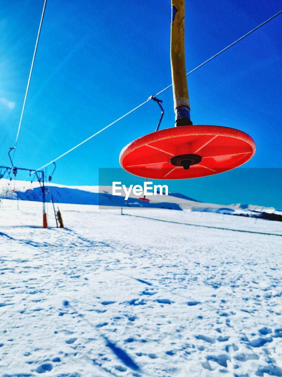
<svg viewBox="0 0 282 377">
<path fill-rule="evenodd" d="M 196 68 L 192 69 L 190 72 L 188 72 L 186 74 L 186 76 L 190 75 L 191 73 L 195 72 L 197 69 L 199 69 L 200 67 L 204 66 L 206 63 L 208 63 L 209 61 L 211 61 L 212 59 L 214 59 L 215 57 L 217 57 L 218 55 L 222 54 L 224 51 L 226 51 L 227 49 L 229 49 L 230 47 L 234 46 L 234 44 L 240 42 L 242 39 L 246 38 L 248 35 L 252 34 L 254 31 L 258 30 L 259 28 L 261 28 L 261 26 L 265 25 L 267 22 L 273 20 L 273 18 L 275 18 L 276 16 L 278 16 L 279 14 L 282 13 L 282 10 L 280 10 L 279 12 L 277 12 L 276 14 L 274 14 L 273 16 L 271 16 L 270 18 L 268 18 L 267 20 L 265 20 L 264 22 L 262 22 L 261 24 L 259 24 L 258 26 L 256 26 L 254 29 L 250 30 L 249 32 L 247 32 L 246 34 L 244 34 L 242 37 L 238 38 L 236 41 L 234 41 L 233 43 L 229 44 L 226 48 L 222 49 L 221 51 L 217 52 L 217 54 L 213 55 L 212 57 L 210 57 L 208 60 L 205 60 L 202 64 L 200 64 L 199 66 L 197 66 Z M 170 87 L 172 87 L 172 84 L 168 85 L 167 87 L 165 87 L 164 89 L 162 89 L 160 92 L 156 93 L 155 95 L 153 96 L 150 96 L 146 101 L 144 101 L 143 103 L 139 104 L 138 106 L 134 107 L 134 109 L 130 110 L 129 112 L 127 112 L 126 114 L 120 116 L 120 118 L 116 119 L 115 121 L 113 121 L 112 123 L 108 124 L 108 126 L 105 126 L 103 127 L 102 129 L 100 129 L 99 131 L 97 131 L 96 133 L 94 133 L 93 135 L 89 136 L 87 139 L 81 141 L 79 144 L 77 144 L 76 146 L 72 147 L 71 149 L 67 150 L 67 152 L 63 153 L 62 155 L 58 156 L 57 158 L 53 159 L 52 161 L 48 162 L 47 164 L 41 166 L 40 168 L 38 168 L 37 170 L 41 170 L 41 169 L 44 169 L 46 166 L 49 166 L 50 164 L 53 164 L 53 162 L 55 161 L 58 161 L 58 159 L 64 157 L 65 155 L 67 155 L 68 153 L 72 152 L 74 149 L 80 147 L 82 144 L 86 143 L 87 141 L 89 141 L 90 139 L 94 138 L 94 136 L 97 136 L 99 135 L 99 133 L 105 131 L 106 129 L 108 129 L 109 127 L 113 126 L 115 123 L 117 123 L 118 121 L 120 121 L 121 119 L 125 118 L 127 115 L 133 113 L 135 110 L 139 109 L 140 107 L 142 107 L 143 105 L 145 105 L 147 102 L 149 102 L 150 100 L 152 100 L 153 98 L 159 96 L 161 93 L 165 92 L 167 89 L 169 89 Z M 37 171 L 36 170 L 36 171 Z"/>
</svg>

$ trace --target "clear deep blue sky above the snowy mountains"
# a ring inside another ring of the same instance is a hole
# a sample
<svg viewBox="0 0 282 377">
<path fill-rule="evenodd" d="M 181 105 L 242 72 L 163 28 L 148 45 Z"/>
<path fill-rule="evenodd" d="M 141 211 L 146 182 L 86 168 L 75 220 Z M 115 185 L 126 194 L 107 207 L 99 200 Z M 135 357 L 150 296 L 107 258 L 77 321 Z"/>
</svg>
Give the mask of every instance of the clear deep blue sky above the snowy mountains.
<svg viewBox="0 0 282 377">
<path fill-rule="evenodd" d="M 186 3 L 187 71 L 281 8 L 279 1 Z M 102 4 L 47 1 L 15 165 L 40 167 L 171 83 L 170 2 Z M 2 164 L 9 163 L 8 148 L 15 142 L 42 6 L 39 0 L 2 1 Z M 257 151 L 248 168 L 281 167 L 281 21 L 279 15 L 188 77 L 194 124 L 235 127 L 255 140 Z M 160 98 L 165 110 L 162 128 L 173 127 L 171 89 Z M 156 103 L 146 104 L 59 160 L 54 182 L 98 184 L 98 168 L 119 167 L 120 150 L 152 132 L 159 115 Z M 262 172 L 267 170 L 254 171 L 253 179 L 264 181 Z M 265 193 L 258 197 L 253 179 L 246 179 L 247 195 L 238 193 L 236 201 L 261 200 L 282 207 L 276 183 L 281 175 L 278 170 L 270 172 L 274 174 L 270 181 L 275 181 L 271 197 Z M 224 180 L 238 179 L 237 173 L 224 174 Z M 233 202 L 226 190 L 210 188 L 208 195 L 207 186 L 215 182 L 212 187 L 218 187 L 220 176 L 171 182 L 171 191 L 193 196 L 191 191 L 197 188 L 200 200 Z"/>
</svg>

